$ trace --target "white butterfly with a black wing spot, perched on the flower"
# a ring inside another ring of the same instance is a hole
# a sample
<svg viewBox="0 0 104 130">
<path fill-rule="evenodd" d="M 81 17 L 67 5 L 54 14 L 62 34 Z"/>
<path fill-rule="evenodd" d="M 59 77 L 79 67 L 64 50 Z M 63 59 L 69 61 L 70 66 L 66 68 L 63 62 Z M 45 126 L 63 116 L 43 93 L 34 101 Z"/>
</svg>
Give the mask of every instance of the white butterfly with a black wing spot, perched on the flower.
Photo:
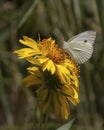
<svg viewBox="0 0 104 130">
<path fill-rule="evenodd" d="M 78 63 L 86 62 L 93 53 L 93 44 L 96 38 L 95 31 L 82 32 L 67 42 L 64 41 L 63 49 Z"/>
</svg>

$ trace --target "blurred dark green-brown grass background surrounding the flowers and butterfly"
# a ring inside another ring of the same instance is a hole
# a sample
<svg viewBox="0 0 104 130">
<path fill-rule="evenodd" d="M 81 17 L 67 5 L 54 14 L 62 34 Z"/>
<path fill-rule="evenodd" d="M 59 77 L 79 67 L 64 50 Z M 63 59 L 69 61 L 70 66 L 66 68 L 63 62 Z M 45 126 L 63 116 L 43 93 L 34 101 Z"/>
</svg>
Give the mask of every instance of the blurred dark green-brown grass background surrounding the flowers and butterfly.
<svg viewBox="0 0 104 130">
<path fill-rule="evenodd" d="M 35 98 L 21 83 L 25 60 L 12 54 L 27 35 L 38 40 L 61 32 L 65 40 L 97 32 L 92 58 L 80 65 L 80 103 L 71 130 L 104 130 L 104 0 L 0 0 L 0 130 L 33 130 Z M 49 130 L 58 121 L 49 120 Z"/>
</svg>

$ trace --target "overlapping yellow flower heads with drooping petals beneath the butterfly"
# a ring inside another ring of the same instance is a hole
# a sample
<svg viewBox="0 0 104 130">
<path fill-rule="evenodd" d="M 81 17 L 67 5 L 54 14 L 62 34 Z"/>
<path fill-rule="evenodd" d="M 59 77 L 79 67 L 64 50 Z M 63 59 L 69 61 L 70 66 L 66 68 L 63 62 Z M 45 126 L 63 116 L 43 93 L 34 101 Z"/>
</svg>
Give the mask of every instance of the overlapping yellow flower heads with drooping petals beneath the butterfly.
<svg viewBox="0 0 104 130">
<path fill-rule="evenodd" d="M 79 103 L 79 67 L 52 38 L 38 42 L 26 36 L 23 39 L 20 42 L 27 48 L 14 51 L 32 64 L 23 82 L 27 86 L 39 84 L 36 93 L 39 96 L 41 91 L 43 112 L 51 107 L 57 117 L 68 119 L 69 102 Z"/>
</svg>

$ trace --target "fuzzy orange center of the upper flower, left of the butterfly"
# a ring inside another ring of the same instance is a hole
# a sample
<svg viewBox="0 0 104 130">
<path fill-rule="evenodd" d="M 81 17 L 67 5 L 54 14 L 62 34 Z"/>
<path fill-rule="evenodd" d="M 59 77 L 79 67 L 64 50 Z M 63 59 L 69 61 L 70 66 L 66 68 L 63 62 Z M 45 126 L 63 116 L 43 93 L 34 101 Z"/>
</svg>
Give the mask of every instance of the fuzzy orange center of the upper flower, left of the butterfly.
<svg viewBox="0 0 104 130">
<path fill-rule="evenodd" d="M 42 54 L 50 58 L 55 63 L 62 63 L 65 60 L 63 50 L 58 48 L 55 41 L 51 38 L 42 40 L 40 49 Z"/>
</svg>

